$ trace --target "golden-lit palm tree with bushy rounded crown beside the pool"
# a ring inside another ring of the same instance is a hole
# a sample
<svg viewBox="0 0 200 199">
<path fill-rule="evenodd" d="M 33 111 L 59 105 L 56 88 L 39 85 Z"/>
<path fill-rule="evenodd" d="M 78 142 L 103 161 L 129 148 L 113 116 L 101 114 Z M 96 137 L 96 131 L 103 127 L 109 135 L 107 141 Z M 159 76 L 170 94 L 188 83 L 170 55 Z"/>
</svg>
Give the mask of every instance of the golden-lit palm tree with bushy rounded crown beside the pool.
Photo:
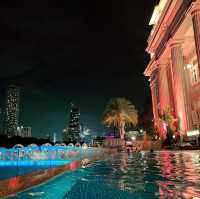
<svg viewBox="0 0 200 199">
<path fill-rule="evenodd" d="M 135 106 L 125 98 L 111 100 L 103 113 L 103 123 L 119 129 L 120 138 L 124 140 L 125 125 L 136 125 L 138 113 Z"/>
</svg>

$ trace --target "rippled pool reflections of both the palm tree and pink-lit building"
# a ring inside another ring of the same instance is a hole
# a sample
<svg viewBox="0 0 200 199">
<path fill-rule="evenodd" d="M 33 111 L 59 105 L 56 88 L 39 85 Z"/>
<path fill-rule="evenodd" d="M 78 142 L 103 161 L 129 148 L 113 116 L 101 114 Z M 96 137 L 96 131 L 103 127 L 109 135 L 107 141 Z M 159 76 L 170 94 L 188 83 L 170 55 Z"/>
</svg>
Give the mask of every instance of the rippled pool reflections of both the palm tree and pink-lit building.
<svg viewBox="0 0 200 199">
<path fill-rule="evenodd" d="M 200 198 L 198 152 L 122 153 L 107 164 L 112 168 L 106 182 L 122 191 L 148 193 L 160 199 Z"/>
</svg>

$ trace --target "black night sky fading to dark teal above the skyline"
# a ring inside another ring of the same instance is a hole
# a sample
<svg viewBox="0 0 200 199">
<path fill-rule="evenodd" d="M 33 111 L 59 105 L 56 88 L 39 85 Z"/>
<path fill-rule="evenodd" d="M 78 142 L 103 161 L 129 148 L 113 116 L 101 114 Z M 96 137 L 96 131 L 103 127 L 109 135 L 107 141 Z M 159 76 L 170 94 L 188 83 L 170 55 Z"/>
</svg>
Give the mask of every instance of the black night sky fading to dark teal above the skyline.
<svg viewBox="0 0 200 199">
<path fill-rule="evenodd" d="M 157 2 L 1 0 L 0 88 L 21 87 L 20 124 L 34 136 L 60 134 L 70 100 L 99 135 L 110 98 L 126 97 L 142 112 L 150 98 L 143 76 L 148 22 Z"/>
</svg>

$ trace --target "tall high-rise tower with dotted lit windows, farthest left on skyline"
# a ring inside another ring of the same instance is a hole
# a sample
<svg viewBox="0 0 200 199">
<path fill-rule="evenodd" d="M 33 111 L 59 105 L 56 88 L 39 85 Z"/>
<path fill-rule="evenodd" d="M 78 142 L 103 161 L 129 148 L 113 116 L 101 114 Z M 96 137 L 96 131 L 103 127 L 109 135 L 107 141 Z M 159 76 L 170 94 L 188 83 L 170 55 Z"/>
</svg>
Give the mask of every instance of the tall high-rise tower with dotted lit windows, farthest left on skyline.
<svg viewBox="0 0 200 199">
<path fill-rule="evenodd" d="M 4 115 L 4 133 L 9 137 L 17 135 L 17 126 L 19 121 L 19 101 L 20 89 L 13 85 L 9 86 L 6 90 Z"/>
</svg>

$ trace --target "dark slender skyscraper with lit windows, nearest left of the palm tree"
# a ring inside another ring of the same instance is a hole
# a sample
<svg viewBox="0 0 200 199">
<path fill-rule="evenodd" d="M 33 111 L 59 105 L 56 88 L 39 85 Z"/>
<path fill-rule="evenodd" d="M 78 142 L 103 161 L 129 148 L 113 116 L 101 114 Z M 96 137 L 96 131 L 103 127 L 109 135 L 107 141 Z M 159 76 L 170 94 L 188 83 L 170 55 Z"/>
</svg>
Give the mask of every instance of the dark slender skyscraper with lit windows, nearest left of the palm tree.
<svg viewBox="0 0 200 199">
<path fill-rule="evenodd" d="M 70 103 L 69 126 L 64 129 L 64 141 L 80 142 L 80 108 Z"/>
</svg>

